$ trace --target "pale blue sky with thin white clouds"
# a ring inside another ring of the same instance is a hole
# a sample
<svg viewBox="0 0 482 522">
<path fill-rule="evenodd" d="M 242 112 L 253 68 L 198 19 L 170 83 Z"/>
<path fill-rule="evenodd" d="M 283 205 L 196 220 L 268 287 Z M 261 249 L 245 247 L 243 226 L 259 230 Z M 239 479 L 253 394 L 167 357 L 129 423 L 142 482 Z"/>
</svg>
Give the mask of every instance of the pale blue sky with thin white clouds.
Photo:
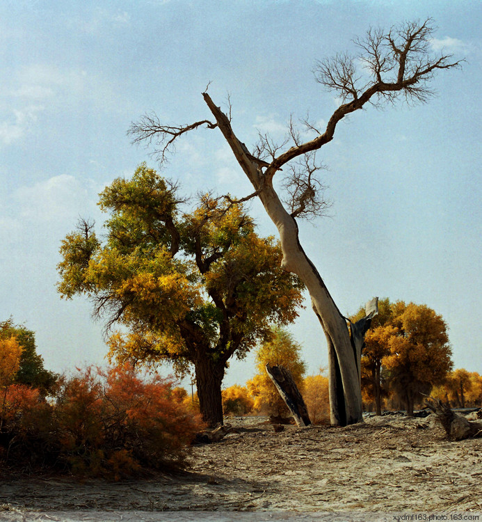
<svg viewBox="0 0 482 522">
<path fill-rule="evenodd" d="M 437 74 L 427 104 L 370 106 L 337 127 L 319 156 L 330 215 L 300 223 L 300 242 L 344 315 L 373 296 L 425 303 L 449 326 L 455 367 L 482 374 L 479 0 L 1 2 L 0 320 L 35 331 L 49 370 L 102 364 L 104 325 L 87 299 L 61 299 L 56 265 L 79 216 L 102 226 L 106 185 L 143 161 L 159 168 L 131 145 L 131 122 L 210 118 L 211 82 L 248 148 L 258 130 L 281 139 L 290 116 L 322 126 L 339 100 L 314 80 L 316 61 L 355 52 L 369 27 L 428 17 L 434 52 L 465 58 L 463 69 Z M 252 191 L 217 131 L 179 141 L 161 172 L 186 195 Z M 250 208 L 259 233 L 276 235 Z M 309 301 L 290 331 L 309 374 L 327 365 Z M 250 354 L 225 385 L 254 373 Z"/>
</svg>

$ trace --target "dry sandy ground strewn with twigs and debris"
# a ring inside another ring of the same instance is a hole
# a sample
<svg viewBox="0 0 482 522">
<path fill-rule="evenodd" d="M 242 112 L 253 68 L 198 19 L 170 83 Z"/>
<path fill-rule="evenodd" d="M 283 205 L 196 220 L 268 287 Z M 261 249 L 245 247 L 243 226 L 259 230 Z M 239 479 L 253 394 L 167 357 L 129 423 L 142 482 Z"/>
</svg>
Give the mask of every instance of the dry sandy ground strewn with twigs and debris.
<svg viewBox="0 0 482 522">
<path fill-rule="evenodd" d="M 188 472 L 179 475 L 1 477 L 0 519 L 2 510 L 482 512 L 482 438 L 447 441 L 432 416 L 281 432 L 263 421 L 227 420 L 236 432 L 193 446 Z"/>
</svg>

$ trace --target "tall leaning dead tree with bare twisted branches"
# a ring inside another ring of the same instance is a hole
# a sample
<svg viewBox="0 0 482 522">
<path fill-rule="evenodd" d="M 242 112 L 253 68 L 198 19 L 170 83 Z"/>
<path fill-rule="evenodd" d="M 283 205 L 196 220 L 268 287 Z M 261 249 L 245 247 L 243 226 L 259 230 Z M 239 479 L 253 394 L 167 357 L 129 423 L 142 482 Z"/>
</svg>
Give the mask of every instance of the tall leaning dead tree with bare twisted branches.
<svg viewBox="0 0 482 522">
<path fill-rule="evenodd" d="M 207 92 L 204 102 L 214 120 L 201 118 L 189 125 L 163 125 L 155 115 L 145 116 L 132 125 L 129 133 L 134 143 L 155 145 L 155 155 L 164 161 L 180 136 L 198 129 L 219 129 L 236 157 L 240 168 L 254 187 L 254 192 L 239 201 L 258 197 L 268 216 L 278 228 L 283 252 L 282 267 L 297 274 L 310 292 L 312 308 L 326 335 L 330 379 L 330 416 L 333 425 L 347 425 L 362 420 L 358 354 L 353 350 L 345 317 L 333 301 L 319 271 L 308 258 L 298 237 L 296 219 L 323 214 L 327 203 L 319 180 L 321 165 L 316 152 L 332 141 L 339 122 L 367 104 L 381 106 L 397 100 L 426 102 L 432 91 L 428 82 L 440 70 L 457 68 L 450 54 L 431 51 L 431 19 L 408 22 L 387 32 L 370 29 L 364 38 L 355 40 L 355 56 L 338 54 L 319 61 L 314 74 L 324 88 L 336 93 L 341 104 L 328 119 L 325 129 L 302 120 L 312 139 L 303 141 L 291 120 L 287 139 L 275 143 L 270 136 L 259 134 L 252 152 L 236 136 L 231 125 L 231 106 L 227 113 L 218 107 Z M 284 168 L 286 167 L 286 168 Z M 286 174 L 283 198 L 273 186 L 280 171 Z M 229 198 L 231 203 L 236 200 Z"/>
</svg>

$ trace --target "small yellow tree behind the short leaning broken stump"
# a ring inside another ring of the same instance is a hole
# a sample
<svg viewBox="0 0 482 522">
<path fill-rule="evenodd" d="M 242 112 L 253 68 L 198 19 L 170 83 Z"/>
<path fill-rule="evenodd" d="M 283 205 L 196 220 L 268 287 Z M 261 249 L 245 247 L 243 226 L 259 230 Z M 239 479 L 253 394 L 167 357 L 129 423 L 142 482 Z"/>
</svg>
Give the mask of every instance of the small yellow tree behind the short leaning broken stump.
<svg viewBox="0 0 482 522">
<path fill-rule="evenodd" d="M 257 374 L 246 383 L 250 395 L 255 397 L 254 409 L 256 411 L 278 417 L 289 414 L 287 405 L 266 373 L 266 365 L 282 365 L 287 368 L 291 372 L 296 386 L 303 390 L 306 365 L 301 360 L 300 352 L 300 345 L 294 340 L 291 333 L 282 328 L 274 329 L 273 338 L 264 342 L 257 349 Z"/>
</svg>

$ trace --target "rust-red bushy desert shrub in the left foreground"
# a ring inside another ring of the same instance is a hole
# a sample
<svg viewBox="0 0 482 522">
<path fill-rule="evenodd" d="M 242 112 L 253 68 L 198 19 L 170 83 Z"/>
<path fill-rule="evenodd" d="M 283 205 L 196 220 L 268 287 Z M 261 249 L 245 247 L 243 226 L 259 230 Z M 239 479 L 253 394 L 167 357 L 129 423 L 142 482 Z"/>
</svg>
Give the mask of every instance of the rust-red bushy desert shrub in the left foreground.
<svg viewBox="0 0 482 522">
<path fill-rule="evenodd" d="M 51 405 L 22 388 L 17 402 L 8 402 L 0 447 L 15 440 L 15 457 L 24 461 L 29 454 L 38 463 L 41 454 L 45 466 L 116 480 L 180 466 L 202 423 L 172 389 L 170 379 L 141 379 L 129 365 L 60 379 Z M 3 459 L 11 457 L 3 452 Z"/>
</svg>

